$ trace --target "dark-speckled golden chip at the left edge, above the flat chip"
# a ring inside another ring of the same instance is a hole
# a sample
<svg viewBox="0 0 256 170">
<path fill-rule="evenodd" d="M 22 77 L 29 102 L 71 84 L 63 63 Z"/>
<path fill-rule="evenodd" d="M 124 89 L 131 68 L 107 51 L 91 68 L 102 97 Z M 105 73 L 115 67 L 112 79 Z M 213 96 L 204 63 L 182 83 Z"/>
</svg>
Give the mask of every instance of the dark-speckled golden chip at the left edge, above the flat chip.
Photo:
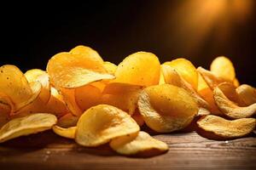
<svg viewBox="0 0 256 170">
<path fill-rule="evenodd" d="M 14 105 L 12 113 L 32 103 L 41 92 L 40 82 L 28 83 L 24 74 L 15 65 L 0 67 L 0 92 L 9 96 Z M 2 99 L 2 97 L 0 97 Z"/>
</svg>

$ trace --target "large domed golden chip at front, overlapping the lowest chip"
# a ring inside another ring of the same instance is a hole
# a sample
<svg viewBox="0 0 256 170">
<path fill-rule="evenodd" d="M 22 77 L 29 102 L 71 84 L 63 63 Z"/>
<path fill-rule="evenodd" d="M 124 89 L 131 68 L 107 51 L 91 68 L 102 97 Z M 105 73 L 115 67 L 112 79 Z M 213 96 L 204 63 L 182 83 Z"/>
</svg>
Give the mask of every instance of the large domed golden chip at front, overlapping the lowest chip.
<svg viewBox="0 0 256 170">
<path fill-rule="evenodd" d="M 84 146 L 98 146 L 139 130 L 140 127 L 125 111 L 111 105 L 96 105 L 80 116 L 75 140 Z"/>
</svg>

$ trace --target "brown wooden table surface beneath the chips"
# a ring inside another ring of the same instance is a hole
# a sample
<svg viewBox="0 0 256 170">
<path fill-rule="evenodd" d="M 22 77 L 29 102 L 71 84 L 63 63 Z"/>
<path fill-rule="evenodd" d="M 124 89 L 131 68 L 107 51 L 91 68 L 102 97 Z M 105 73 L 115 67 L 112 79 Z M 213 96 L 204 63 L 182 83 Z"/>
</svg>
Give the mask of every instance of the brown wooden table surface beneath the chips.
<svg viewBox="0 0 256 170">
<path fill-rule="evenodd" d="M 166 154 L 148 158 L 119 156 L 108 144 L 79 146 L 51 131 L 0 144 L 0 169 L 256 169 L 255 134 L 216 141 L 195 132 L 154 135 Z"/>
</svg>

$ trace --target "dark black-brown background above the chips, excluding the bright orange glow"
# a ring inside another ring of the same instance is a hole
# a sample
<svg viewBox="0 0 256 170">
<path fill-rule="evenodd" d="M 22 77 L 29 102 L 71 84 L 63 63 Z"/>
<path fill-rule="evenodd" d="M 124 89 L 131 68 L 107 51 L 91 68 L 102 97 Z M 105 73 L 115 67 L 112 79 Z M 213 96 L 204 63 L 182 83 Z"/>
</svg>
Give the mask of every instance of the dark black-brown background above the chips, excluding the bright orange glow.
<svg viewBox="0 0 256 170">
<path fill-rule="evenodd" d="M 224 28 L 218 23 L 225 23 L 221 16 L 215 20 L 200 46 L 193 48 L 196 42 L 193 40 L 201 33 L 204 23 L 195 21 L 194 31 L 182 24 L 198 8 L 185 8 L 177 15 L 184 2 L 148 0 L 1 5 L 0 64 L 17 65 L 22 71 L 45 69 L 51 56 L 79 44 L 96 49 L 103 59 L 115 64 L 141 50 L 156 54 L 161 62 L 183 57 L 195 66 L 205 68 L 218 55 L 225 55 L 236 66 L 240 82 L 255 87 L 255 4 L 247 20 L 239 24 L 232 21 L 228 36 L 218 33 Z M 227 7 L 227 13 L 229 10 Z"/>
</svg>

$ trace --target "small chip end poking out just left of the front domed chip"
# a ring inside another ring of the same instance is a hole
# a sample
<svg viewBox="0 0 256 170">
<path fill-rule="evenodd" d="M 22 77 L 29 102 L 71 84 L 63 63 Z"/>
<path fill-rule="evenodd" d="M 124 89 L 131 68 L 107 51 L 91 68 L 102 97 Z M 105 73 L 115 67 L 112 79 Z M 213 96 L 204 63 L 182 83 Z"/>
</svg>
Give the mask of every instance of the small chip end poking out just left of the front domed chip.
<svg viewBox="0 0 256 170">
<path fill-rule="evenodd" d="M 77 127 L 67 127 L 67 128 L 63 128 L 63 127 L 59 127 L 57 125 L 54 125 L 52 127 L 52 130 L 64 137 L 64 138 L 68 138 L 68 139 L 74 139 L 75 138 L 75 133 L 76 133 L 76 130 L 77 130 Z"/>
</svg>

